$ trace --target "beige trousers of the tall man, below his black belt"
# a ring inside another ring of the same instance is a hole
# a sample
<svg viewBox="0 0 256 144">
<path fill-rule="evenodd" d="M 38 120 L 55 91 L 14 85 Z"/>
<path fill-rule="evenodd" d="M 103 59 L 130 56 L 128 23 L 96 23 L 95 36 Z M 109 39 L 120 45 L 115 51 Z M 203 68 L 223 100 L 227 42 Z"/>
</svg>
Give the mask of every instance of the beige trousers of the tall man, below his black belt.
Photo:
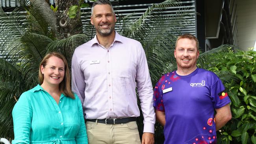
<svg viewBox="0 0 256 144">
<path fill-rule="evenodd" d="M 141 144 L 136 122 L 102 124 L 86 122 L 89 144 Z"/>
</svg>

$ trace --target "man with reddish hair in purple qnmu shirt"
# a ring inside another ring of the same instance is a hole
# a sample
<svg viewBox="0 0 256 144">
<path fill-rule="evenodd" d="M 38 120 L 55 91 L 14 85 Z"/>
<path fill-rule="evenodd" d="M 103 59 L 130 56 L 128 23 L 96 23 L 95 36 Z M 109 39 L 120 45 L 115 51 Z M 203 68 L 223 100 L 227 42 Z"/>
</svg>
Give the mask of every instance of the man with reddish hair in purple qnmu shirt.
<svg viewBox="0 0 256 144">
<path fill-rule="evenodd" d="M 177 70 L 156 83 L 154 107 L 164 126 L 165 144 L 216 144 L 216 131 L 232 117 L 221 80 L 197 68 L 198 56 L 197 38 L 179 36 L 174 50 Z"/>
</svg>

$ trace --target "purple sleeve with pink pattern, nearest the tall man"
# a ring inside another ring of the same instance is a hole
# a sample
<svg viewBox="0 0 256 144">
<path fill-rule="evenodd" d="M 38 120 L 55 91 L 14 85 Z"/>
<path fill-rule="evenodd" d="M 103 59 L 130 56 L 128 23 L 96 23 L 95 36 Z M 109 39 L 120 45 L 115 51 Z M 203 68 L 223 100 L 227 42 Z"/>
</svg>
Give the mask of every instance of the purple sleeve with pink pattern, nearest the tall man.
<svg viewBox="0 0 256 144">
<path fill-rule="evenodd" d="M 163 106 L 162 92 L 161 89 L 159 89 L 160 85 L 161 83 L 159 80 L 154 87 L 154 107 L 156 110 L 164 112 L 165 108 Z"/>
</svg>

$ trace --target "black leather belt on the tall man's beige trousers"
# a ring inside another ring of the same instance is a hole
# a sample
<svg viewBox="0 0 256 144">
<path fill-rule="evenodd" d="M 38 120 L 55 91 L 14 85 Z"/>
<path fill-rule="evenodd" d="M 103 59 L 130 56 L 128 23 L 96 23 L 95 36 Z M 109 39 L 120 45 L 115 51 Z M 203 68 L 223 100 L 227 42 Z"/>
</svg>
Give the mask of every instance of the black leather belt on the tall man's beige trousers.
<svg viewBox="0 0 256 144">
<path fill-rule="evenodd" d="M 89 122 L 96 122 L 97 119 L 86 119 Z M 97 122 L 102 123 L 102 124 L 125 124 L 128 122 L 134 122 L 136 121 L 136 117 L 128 117 L 128 118 L 106 118 L 106 119 L 98 119 Z"/>
</svg>

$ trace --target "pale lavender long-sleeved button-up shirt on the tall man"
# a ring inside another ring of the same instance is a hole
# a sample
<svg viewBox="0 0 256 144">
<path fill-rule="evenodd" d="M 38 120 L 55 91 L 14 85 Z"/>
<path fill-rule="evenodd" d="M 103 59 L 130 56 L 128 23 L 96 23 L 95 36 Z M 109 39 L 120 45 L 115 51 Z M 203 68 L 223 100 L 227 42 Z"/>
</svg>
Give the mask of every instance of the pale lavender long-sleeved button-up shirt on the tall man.
<svg viewBox="0 0 256 144">
<path fill-rule="evenodd" d="M 153 89 L 140 42 L 122 37 L 106 49 L 94 39 L 78 46 L 72 57 L 72 90 L 79 96 L 86 119 L 140 115 L 137 86 L 144 117 L 143 132 L 154 133 Z"/>
</svg>

